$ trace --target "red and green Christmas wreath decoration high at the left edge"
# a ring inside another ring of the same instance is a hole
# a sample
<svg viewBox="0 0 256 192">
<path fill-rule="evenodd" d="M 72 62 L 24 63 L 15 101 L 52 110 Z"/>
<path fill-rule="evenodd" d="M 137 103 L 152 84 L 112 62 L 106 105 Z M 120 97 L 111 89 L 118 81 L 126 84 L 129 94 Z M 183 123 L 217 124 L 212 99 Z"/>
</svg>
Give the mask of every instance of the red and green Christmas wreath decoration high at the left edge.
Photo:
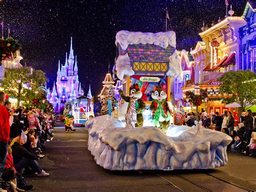
<svg viewBox="0 0 256 192">
<path fill-rule="evenodd" d="M 15 52 L 18 51 L 20 47 L 21 44 L 19 44 L 17 40 L 13 39 L 12 37 L 0 39 L 0 61 L 16 58 Z"/>
</svg>

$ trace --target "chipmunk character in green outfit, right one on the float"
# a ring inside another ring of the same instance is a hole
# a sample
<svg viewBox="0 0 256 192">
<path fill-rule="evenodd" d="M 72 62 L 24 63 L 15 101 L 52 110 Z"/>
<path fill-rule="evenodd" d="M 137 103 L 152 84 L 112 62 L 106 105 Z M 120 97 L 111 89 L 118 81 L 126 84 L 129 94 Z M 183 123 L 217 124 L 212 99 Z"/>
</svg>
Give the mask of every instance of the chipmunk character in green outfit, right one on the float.
<svg viewBox="0 0 256 192">
<path fill-rule="evenodd" d="M 165 100 L 167 94 L 164 92 L 163 87 L 157 86 L 154 88 L 151 97 L 153 99 L 150 106 L 153 111 L 152 123 L 154 126 L 160 127 L 163 132 L 166 132 L 171 119 L 169 105 Z"/>
</svg>

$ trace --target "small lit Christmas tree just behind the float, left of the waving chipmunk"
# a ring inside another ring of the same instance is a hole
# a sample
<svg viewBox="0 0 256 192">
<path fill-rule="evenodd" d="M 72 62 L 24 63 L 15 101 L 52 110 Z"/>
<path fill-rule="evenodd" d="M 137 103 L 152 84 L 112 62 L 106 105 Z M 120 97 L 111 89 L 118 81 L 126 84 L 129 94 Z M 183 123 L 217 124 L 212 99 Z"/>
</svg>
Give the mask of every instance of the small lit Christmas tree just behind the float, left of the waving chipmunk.
<svg viewBox="0 0 256 192">
<path fill-rule="evenodd" d="M 111 104 L 112 104 L 112 111 L 113 108 L 116 106 L 116 95 L 114 94 L 114 87 L 110 87 L 109 90 L 107 90 L 107 93 L 104 94 L 104 97 L 102 98 L 102 100 L 100 101 L 102 104 L 102 110 L 100 112 L 101 115 L 106 115 L 108 113 L 108 100 L 111 100 Z"/>
</svg>

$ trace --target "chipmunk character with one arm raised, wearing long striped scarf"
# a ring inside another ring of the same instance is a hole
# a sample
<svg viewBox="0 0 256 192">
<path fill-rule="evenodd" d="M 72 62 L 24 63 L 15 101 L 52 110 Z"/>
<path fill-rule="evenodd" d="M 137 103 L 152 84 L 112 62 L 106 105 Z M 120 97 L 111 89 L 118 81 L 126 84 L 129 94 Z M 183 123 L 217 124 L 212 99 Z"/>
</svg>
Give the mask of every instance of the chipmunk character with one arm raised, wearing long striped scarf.
<svg viewBox="0 0 256 192">
<path fill-rule="evenodd" d="M 126 102 L 129 102 L 126 114 L 130 114 L 131 120 L 134 122 L 137 120 L 135 127 L 143 126 L 143 109 L 145 108 L 145 103 L 142 100 L 142 92 L 139 89 L 138 84 L 133 84 L 130 87 L 129 96 L 125 96 L 122 90 L 119 90 L 120 97 Z"/>
</svg>

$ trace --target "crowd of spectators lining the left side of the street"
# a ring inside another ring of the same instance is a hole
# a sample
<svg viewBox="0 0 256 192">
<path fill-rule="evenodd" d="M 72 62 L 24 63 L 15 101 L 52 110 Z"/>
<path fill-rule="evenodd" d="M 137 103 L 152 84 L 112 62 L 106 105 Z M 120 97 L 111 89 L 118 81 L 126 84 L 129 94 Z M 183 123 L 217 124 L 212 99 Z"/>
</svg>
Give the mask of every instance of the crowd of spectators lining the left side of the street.
<svg viewBox="0 0 256 192">
<path fill-rule="evenodd" d="M 33 188 L 24 175 L 49 176 L 39 163 L 45 144 L 53 139 L 54 116 L 32 107 L 11 107 L 0 91 L 0 191 Z"/>
</svg>

